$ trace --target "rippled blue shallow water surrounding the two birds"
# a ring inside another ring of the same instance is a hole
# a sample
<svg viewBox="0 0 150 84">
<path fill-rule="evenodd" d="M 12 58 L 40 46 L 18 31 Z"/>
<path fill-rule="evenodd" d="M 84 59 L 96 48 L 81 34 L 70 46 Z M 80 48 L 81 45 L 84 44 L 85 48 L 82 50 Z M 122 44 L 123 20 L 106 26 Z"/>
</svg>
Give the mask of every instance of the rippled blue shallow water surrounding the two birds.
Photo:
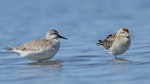
<svg viewBox="0 0 150 84">
<path fill-rule="evenodd" d="M 0 83 L 149 84 L 149 0 L 1 0 Z M 96 46 L 127 27 L 130 49 L 114 60 Z M 44 37 L 55 28 L 69 40 L 46 62 L 7 52 L 10 45 Z"/>
</svg>

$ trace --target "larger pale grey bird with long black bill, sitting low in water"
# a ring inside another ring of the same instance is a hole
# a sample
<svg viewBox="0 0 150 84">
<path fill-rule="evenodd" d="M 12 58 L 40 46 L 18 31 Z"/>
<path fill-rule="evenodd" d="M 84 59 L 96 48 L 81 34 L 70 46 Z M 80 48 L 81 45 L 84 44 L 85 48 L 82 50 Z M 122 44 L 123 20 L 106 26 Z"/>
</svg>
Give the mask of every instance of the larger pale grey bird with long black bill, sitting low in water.
<svg viewBox="0 0 150 84">
<path fill-rule="evenodd" d="M 10 46 L 8 50 L 30 60 L 48 60 L 52 58 L 60 48 L 58 38 L 68 40 L 59 35 L 57 30 L 51 29 L 46 33 L 45 38 L 32 40 L 18 46 Z"/>
</svg>

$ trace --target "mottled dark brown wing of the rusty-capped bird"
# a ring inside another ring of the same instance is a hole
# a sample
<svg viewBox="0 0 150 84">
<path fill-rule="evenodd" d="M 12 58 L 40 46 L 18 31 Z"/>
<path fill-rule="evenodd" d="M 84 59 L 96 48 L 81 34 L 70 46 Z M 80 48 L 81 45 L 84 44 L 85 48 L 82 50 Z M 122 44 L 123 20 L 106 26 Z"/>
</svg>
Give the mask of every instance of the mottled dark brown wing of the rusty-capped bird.
<svg viewBox="0 0 150 84">
<path fill-rule="evenodd" d="M 109 49 L 116 37 L 116 33 L 114 34 L 110 34 L 109 36 L 106 37 L 106 39 L 104 40 L 99 40 L 99 42 L 97 43 L 98 46 L 104 47 L 106 50 Z"/>
</svg>

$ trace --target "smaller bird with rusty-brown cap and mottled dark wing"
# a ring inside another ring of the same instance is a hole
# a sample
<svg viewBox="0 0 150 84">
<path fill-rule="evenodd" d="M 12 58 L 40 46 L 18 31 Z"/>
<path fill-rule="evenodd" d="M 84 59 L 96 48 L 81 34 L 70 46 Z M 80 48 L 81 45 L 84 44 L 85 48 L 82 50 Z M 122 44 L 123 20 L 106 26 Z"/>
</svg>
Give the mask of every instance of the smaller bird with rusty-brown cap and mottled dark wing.
<svg viewBox="0 0 150 84">
<path fill-rule="evenodd" d="M 126 52 L 131 44 L 131 35 L 128 28 L 120 28 L 116 33 L 108 35 L 104 40 L 99 40 L 98 46 L 115 56 Z"/>
</svg>

